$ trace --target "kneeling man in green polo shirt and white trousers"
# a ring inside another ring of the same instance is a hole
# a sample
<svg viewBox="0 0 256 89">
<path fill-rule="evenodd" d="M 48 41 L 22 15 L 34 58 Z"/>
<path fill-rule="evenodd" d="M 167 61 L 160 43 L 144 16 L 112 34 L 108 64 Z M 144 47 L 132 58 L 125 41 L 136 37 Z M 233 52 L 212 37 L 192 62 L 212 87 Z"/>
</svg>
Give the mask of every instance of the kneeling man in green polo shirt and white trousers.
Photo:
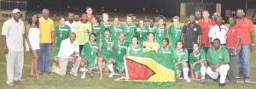
<svg viewBox="0 0 256 89">
<path fill-rule="evenodd" d="M 213 81 L 218 81 L 218 74 L 220 81 L 218 86 L 225 86 L 225 80 L 228 70 L 230 70 L 230 57 L 228 51 L 220 46 L 218 38 L 213 40 L 213 47 L 210 47 L 207 53 L 207 75 L 212 77 Z"/>
</svg>

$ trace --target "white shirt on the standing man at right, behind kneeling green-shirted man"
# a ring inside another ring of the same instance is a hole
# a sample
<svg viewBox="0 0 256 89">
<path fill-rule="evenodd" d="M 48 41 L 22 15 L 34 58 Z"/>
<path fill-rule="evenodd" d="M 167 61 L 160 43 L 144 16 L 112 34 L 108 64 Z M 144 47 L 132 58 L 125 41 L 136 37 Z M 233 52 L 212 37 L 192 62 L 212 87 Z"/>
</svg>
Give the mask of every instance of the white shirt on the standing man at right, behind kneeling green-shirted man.
<svg viewBox="0 0 256 89">
<path fill-rule="evenodd" d="M 229 30 L 229 28 L 225 25 L 221 25 L 220 27 L 218 25 L 214 25 L 211 27 L 208 36 L 212 37 L 212 42 L 215 38 L 218 38 L 220 40 L 220 44 L 226 44 L 226 33 Z"/>
</svg>

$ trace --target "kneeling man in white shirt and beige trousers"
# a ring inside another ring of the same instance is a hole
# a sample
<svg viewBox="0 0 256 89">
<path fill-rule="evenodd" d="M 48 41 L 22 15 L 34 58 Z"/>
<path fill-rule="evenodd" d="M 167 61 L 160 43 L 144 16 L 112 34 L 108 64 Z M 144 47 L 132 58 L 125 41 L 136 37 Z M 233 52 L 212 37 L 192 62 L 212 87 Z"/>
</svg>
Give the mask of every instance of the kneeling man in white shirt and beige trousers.
<svg viewBox="0 0 256 89">
<path fill-rule="evenodd" d="M 66 75 L 68 61 L 73 63 L 70 74 L 78 76 L 79 64 L 79 43 L 75 41 L 76 34 L 72 32 L 69 38 L 61 42 L 60 52 L 58 53 L 57 64 L 53 64 L 51 71 L 59 75 Z"/>
</svg>

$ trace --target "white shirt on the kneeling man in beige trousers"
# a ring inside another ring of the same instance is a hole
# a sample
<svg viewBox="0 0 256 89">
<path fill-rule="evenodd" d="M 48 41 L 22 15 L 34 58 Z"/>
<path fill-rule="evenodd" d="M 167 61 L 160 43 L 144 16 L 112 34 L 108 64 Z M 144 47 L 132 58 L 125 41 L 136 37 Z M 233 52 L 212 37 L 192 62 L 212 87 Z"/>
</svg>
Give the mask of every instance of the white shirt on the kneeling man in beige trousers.
<svg viewBox="0 0 256 89">
<path fill-rule="evenodd" d="M 79 43 L 74 41 L 70 42 L 70 39 L 67 38 L 61 42 L 60 52 L 58 53 L 58 57 L 61 58 L 71 58 L 70 55 L 74 52 L 79 53 Z M 76 55 L 76 56 L 79 56 Z"/>
</svg>

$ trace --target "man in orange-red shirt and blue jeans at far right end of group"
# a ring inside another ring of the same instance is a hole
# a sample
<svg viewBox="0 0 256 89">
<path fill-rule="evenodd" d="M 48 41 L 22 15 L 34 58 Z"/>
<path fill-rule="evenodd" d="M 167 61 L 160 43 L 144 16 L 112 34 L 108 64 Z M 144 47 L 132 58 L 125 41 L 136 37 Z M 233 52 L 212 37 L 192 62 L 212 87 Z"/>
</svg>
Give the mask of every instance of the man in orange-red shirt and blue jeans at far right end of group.
<svg viewBox="0 0 256 89">
<path fill-rule="evenodd" d="M 244 17 L 244 11 L 239 8 L 236 10 L 236 24 L 241 28 L 241 51 L 238 54 L 237 63 L 239 75 L 236 78 L 244 78 L 245 83 L 250 82 L 250 50 L 254 47 L 254 26 L 251 19 Z"/>
</svg>

